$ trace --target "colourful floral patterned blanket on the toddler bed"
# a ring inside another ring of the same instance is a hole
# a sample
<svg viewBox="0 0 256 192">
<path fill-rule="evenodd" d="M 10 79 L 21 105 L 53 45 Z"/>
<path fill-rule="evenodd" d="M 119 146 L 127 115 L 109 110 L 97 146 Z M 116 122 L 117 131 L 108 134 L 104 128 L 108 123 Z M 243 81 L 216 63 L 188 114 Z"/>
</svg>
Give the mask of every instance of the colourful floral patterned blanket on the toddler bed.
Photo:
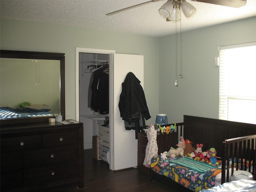
<svg viewBox="0 0 256 192">
<path fill-rule="evenodd" d="M 205 162 L 198 162 L 191 159 L 190 166 L 185 166 L 181 163 L 182 157 L 175 159 L 162 160 L 160 156 L 154 157 L 151 160 L 151 169 L 161 175 L 171 178 L 175 182 L 178 182 L 182 186 L 199 192 L 203 189 L 209 189 L 215 186 L 215 176 L 221 173 L 221 166 L 207 166 L 206 170 L 200 172 L 196 171 L 197 168 L 205 166 Z M 193 162 L 195 165 L 193 165 Z M 208 164 L 207 164 L 208 165 Z M 192 169 L 190 168 L 196 167 Z"/>
</svg>

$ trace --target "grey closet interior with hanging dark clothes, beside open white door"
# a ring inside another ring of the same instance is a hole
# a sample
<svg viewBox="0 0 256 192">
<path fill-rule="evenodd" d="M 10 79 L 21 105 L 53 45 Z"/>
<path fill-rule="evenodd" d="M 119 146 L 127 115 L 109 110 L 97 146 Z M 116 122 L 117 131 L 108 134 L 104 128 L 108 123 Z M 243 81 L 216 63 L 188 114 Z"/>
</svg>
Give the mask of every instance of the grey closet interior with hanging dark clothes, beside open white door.
<svg viewBox="0 0 256 192">
<path fill-rule="evenodd" d="M 97 135 L 97 125 L 104 124 L 108 119 L 108 95 L 104 94 L 104 99 L 95 98 L 95 92 L 99 84 L 106 84 L 108 91 L 108 75 L 103 72 L 108 67 L 108 54 L 79 53 L 79 121 L 84 124 L 84 149 L 92 148 L 92 136 Z M 94 74 L 103 72 L 104 78 L 100 77 L 98 84 L 93 80 Z M 92 81 L 94 82 L 92 84 Z M 106 92 L 106 90 L 104 90 Z M 94 98 L 93 98 L 94 97 Z M 102 98 L 102 97 L 101 97 Z M 102 105 L 102 106 L 99 106 Z M 98 110 L 104 108 L 104 110 Z"/>
</svg>

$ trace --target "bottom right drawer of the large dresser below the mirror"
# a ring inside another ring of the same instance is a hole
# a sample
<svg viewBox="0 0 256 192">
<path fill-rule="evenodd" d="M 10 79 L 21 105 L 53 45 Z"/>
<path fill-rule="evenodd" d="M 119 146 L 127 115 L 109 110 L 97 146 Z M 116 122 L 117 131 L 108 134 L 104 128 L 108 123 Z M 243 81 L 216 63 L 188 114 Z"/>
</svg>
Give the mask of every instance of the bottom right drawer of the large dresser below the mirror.
<svg viewBox="0 0 256 192">
<path fill-rule="evenodd" d="M 24 186 L 54 183 L 61 180 L 78 180 L 78 162 L 24 169 Z"/>
</svg>

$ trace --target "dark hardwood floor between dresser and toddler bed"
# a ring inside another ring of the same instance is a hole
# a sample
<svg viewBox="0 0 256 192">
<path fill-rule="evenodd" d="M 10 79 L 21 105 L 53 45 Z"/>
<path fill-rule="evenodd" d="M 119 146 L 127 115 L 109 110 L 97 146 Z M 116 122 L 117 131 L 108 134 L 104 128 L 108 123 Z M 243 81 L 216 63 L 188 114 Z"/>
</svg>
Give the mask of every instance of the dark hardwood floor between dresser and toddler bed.
<svg viewBox="0 0 256 192">
<path fill-rule="evenodd" d="M 157 181 L 137 168 L 112 171 L 108 163 L 92 158 L 92 150 L 84 150 L 84 188 L 62 186 L 44 192 L 178 192 Z"/>
</svg>

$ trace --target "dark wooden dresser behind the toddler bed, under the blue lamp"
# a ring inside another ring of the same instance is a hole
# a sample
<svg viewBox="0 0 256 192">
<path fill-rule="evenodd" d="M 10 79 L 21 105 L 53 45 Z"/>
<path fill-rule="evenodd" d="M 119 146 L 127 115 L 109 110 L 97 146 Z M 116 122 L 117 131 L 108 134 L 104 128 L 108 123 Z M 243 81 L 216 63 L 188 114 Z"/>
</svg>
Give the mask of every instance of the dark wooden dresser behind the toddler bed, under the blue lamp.
<svg viewBox="0 0 256 192">
<path fill-rule="evenodd" d="M 181 124 L 181 123 L 180 123 Z M 174 139 L 170 139 L 170 137 Z M 178 133 L 172 132 L 170 134 L 162 134 L 157 132 L 157 145 L 158 145 L 158 155 L 164 151 L 169 151 L 171 147 L 176 147 L 178 144 Z M 148 138 L 145 132 L 138 133 L 138 170 L 143 173 L 150 175 L 150 168 L 143 165 L 145 159 L 145 151 L 148 144 Z"/>
</svg>

